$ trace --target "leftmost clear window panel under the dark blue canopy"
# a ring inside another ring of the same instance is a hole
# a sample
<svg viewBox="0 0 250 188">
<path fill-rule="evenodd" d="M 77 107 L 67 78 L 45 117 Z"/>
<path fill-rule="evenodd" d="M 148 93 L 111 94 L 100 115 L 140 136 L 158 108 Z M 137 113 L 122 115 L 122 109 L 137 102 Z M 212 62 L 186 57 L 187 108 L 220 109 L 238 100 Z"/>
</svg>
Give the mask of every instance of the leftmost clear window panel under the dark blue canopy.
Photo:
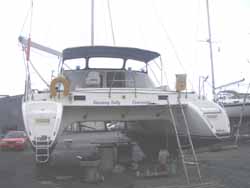
<svg viewBox="0 0 250 188">
<path fill-rule="evenodd" d="M 84 58 L 68 59 L 64 61 L 64 70 L 80 70 L 86 68 L 86 60 Z"/>
</svg>

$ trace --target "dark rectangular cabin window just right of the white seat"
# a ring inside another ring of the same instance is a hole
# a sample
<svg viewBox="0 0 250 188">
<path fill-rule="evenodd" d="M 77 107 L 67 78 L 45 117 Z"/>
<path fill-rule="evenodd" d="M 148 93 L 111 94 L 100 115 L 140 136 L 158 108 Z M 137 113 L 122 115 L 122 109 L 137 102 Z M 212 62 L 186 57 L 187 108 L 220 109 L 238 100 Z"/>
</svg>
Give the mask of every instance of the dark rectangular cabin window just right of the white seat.
<svg viewBox="0 0 250 188">
<path fill-rule="evenodd" d="M 107 72 L 107 87 L 125 87 L 125 72 Z"/>
</svg>

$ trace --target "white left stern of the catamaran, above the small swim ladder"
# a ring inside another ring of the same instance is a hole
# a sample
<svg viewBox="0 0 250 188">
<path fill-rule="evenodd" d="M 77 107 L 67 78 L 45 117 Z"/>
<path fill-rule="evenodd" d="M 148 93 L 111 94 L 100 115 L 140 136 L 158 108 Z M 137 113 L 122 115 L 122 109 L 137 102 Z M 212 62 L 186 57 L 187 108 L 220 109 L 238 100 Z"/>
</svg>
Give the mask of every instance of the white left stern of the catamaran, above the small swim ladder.
<svg viewBox="0 0 250 188">
<path fill-rule="evenodd" d="M 46 136 L 51 147 L 61 125 L 63 106 L 53 101 L 29 101 L 22 104 L 26 132 L 33 147 L 36 140 Z"/>
</svg>

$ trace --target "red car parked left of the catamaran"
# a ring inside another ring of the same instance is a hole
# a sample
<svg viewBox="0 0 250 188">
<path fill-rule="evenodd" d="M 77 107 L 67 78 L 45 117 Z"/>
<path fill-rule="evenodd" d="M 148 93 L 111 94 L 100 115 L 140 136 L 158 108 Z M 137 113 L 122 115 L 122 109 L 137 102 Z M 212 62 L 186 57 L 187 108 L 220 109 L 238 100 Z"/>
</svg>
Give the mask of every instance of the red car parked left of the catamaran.
<svg viewBox="0 0 250 188">
<path fill-rule="evenodd" d="M 24 131 L 9 131 L 4 138 L 0 140 L 0 148 L 24 150 L 27 147 L 28 138 Z"/>
</svg>

